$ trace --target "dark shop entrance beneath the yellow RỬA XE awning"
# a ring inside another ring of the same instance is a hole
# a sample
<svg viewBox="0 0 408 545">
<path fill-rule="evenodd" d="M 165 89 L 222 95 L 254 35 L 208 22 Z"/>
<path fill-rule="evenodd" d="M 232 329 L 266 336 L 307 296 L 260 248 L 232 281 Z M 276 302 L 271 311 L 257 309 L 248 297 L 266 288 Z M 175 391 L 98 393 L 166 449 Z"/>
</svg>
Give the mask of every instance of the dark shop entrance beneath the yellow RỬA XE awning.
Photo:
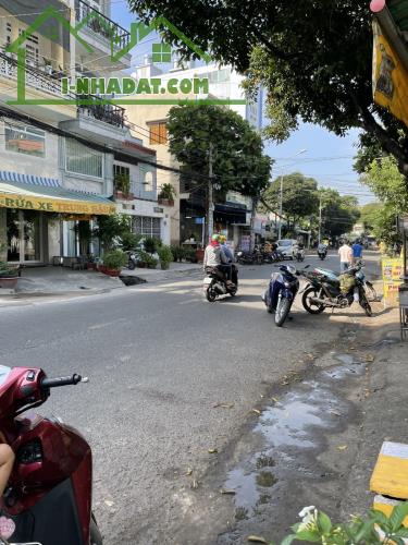
<svg viewBox="0 0 408 545">
<path fill-rule="evenodd" d="M 41 263 L 42 215 L 33 210 L 7 209 L 8 261 Z"/>
</svg>

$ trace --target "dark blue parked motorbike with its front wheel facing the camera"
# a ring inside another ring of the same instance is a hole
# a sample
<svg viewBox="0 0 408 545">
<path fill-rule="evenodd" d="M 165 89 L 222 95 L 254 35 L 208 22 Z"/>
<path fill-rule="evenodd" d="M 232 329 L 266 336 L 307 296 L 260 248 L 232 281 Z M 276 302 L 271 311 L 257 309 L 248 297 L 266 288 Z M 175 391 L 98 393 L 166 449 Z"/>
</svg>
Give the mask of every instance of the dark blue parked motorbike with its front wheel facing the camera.
<svg viewBox="0 0 408 545">
<path fill-rule="evenodd" d="M 262 300 L 268 312 L 275 313 L 275 325 L 282 327 L 285 323 L 296 293 L 299 290 L 299 272 L 293 265 L 281 265 L 280 270 L 272 272 L 269 287 Z"/>
</svg>

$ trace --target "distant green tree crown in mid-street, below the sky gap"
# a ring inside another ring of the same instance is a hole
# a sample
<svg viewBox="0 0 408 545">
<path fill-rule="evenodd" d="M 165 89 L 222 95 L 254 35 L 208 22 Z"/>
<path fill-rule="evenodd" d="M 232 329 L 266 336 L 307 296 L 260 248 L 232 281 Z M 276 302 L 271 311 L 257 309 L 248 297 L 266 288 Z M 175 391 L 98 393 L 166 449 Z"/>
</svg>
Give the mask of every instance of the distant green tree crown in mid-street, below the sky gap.
<svg viewBox="0 0 408 545">
<path fill-rule="evenodd" d="M 276 178 L 262 195 L 262 201 L 273 210 L 280 209 L 281 177 Z M 302 218 L 317 214 L 319 209 L 318 182 L 300 172 L 293 172 L 282 179 L 283 216 L 293 227 Z"/>
</svg>

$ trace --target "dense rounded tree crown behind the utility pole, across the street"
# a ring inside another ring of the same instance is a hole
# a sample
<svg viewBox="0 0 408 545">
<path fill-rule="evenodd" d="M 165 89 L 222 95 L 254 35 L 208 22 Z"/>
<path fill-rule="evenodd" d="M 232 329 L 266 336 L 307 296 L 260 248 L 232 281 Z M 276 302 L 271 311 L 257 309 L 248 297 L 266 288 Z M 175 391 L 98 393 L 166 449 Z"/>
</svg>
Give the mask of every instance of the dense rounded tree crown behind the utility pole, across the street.
<svg viewBox="0 0 408 545">
<path fill-rule="evenodd" d="M 219 106 L 177 106 L 169 112 L 168 130 L 170 152 L 189 172 L 208 175 L 212 147 L 221 194 L 258 197 L 267 186 L 271 159 L 263 155 L 260 135 L 238 113 Z"/>
</svg>

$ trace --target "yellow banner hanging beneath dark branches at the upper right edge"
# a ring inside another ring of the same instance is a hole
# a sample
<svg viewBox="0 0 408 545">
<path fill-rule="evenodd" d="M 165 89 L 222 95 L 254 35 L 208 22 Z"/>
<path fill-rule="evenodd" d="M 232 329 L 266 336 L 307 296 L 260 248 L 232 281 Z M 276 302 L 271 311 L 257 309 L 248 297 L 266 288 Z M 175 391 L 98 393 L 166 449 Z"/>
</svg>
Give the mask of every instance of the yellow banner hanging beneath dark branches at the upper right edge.
<svg viewBox="0 0 408 545">
<path fill-rule="evenodd" d="M 408 72 L 384 36 L 381 26 L 373 22 L 374 101 L 390 110 L 408 126 Z"/>
</svg>

